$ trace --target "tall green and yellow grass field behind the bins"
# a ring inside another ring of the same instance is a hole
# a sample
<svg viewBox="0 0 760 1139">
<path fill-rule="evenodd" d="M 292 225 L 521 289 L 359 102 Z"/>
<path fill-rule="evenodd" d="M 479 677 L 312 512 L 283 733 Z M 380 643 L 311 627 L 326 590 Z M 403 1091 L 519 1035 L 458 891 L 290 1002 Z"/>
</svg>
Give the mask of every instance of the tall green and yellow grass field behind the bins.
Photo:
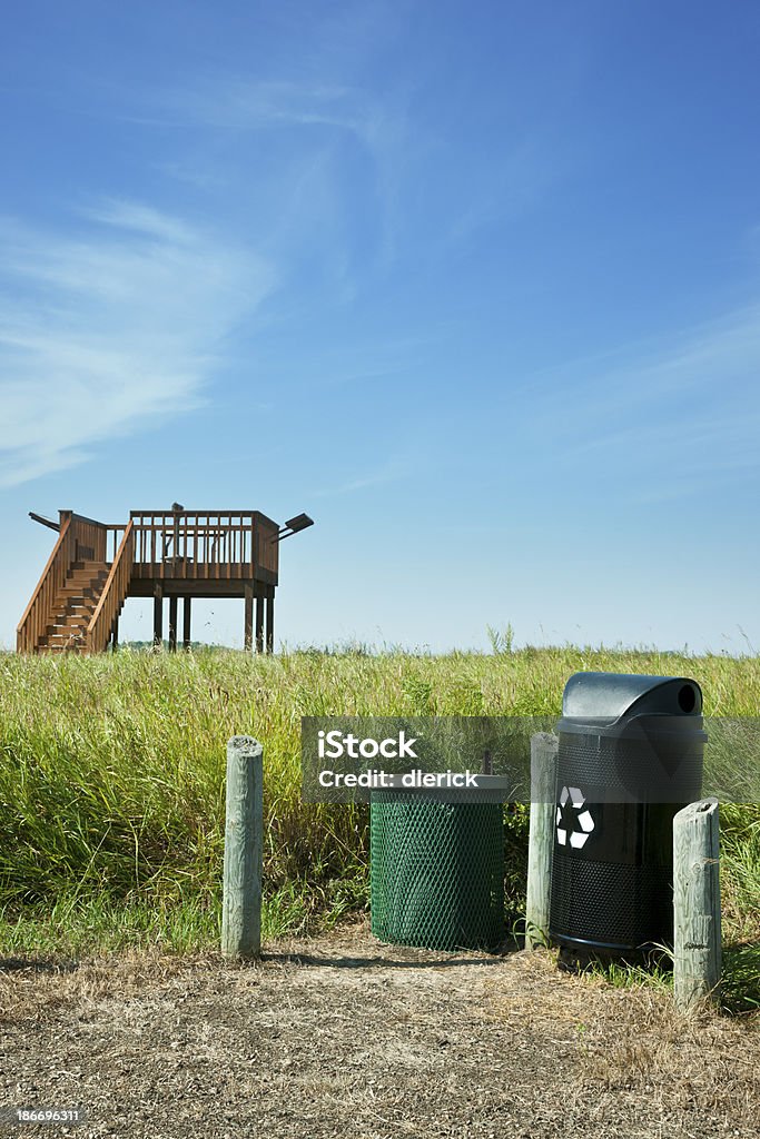
<svg viewBox="0 0 760 1139">
<path fill-rule="evenodd" d="M 0 953 L 218 944 L 227 739 L 264 746 L 264 935 L 367 901 L 367 813 L 300 797 L 302 715 L 557 714 L 578 670 L 690 675 L 709 715 L 758 714 L 760 658 L 580 648 L 307 649 L 252 657 L 0 655 Z M 727 993 L 760 1000 L 760 808 L 721 808 Z M 509 816 L 524 903 L 526 809 Z"/>
</svg>

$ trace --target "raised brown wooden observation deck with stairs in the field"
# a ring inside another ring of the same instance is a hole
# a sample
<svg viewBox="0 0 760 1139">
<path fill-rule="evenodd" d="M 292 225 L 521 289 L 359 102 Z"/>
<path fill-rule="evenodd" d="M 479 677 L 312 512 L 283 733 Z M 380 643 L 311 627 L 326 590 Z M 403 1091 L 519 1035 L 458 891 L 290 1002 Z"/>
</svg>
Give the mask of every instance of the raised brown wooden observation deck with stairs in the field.
<svg viewBox="0 0 760 1139">
<path fill-rule="evenodd" d="M 271 653 L 279 542 L 311 525 L 305 515 L 285 527 L 259 510 L 132 510 L 125 526 L 72 510 L 59 515 L 58 523 L 32 516 L 57 530 L 58 540 L 18 624 L 19 653 L 116 648 L 119 616 L 128 597 L 154 599 L 154 644 L 163 640 L 167 599 L 172 650 L 180 600 L 187 648 L 194 597 L 240 597 L 246 649 Z"/>
</svg>

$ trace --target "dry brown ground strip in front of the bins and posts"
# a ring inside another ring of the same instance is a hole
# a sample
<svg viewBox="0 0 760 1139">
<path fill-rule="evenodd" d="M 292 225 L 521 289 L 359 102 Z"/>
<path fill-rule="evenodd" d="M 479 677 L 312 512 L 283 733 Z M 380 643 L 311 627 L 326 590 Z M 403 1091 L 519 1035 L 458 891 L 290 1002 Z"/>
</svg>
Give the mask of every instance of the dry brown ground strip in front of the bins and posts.
<svg viewBox="0 0 760 1139">
<path fill-rule="evenodd" d="M 539 951 L 452 957 L 366 925 L 255 965 L 0 960 L 5 1125 L 204 1139 L 680 1139 L 760 1130 L 760 1023 L 559 974 Z"/>
</svg>

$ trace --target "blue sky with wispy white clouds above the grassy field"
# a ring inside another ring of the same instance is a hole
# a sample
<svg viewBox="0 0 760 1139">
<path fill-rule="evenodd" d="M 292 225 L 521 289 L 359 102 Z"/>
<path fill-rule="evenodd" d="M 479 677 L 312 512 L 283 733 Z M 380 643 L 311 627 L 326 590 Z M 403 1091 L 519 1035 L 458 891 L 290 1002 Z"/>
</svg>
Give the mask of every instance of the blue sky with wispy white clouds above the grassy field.
<svg viewBox="0 0 760 1139">
<path fill-rule="evenodd" d="M 760 647 L 755 5 L 3 23 L 0 644 L 28 510 L 179 499 L 312 515 L 291 646 Z"/>
</svg>

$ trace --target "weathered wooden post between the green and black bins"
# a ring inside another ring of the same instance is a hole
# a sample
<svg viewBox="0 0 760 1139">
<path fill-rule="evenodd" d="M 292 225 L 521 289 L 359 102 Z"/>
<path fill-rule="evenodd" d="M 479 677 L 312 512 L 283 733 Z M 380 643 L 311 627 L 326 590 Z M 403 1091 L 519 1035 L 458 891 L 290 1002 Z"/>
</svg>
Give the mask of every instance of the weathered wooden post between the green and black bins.
<svg viewBox="0 0 760 1139">
<path fill-rule="evenodd" d="M 528 841 L 525 948 L 545 945 L 549 937 L 551 854 L 556 812 L 556 770 L 559 741 L 548 731 L 531 736 L 531 813 Z"/>
</svg>

